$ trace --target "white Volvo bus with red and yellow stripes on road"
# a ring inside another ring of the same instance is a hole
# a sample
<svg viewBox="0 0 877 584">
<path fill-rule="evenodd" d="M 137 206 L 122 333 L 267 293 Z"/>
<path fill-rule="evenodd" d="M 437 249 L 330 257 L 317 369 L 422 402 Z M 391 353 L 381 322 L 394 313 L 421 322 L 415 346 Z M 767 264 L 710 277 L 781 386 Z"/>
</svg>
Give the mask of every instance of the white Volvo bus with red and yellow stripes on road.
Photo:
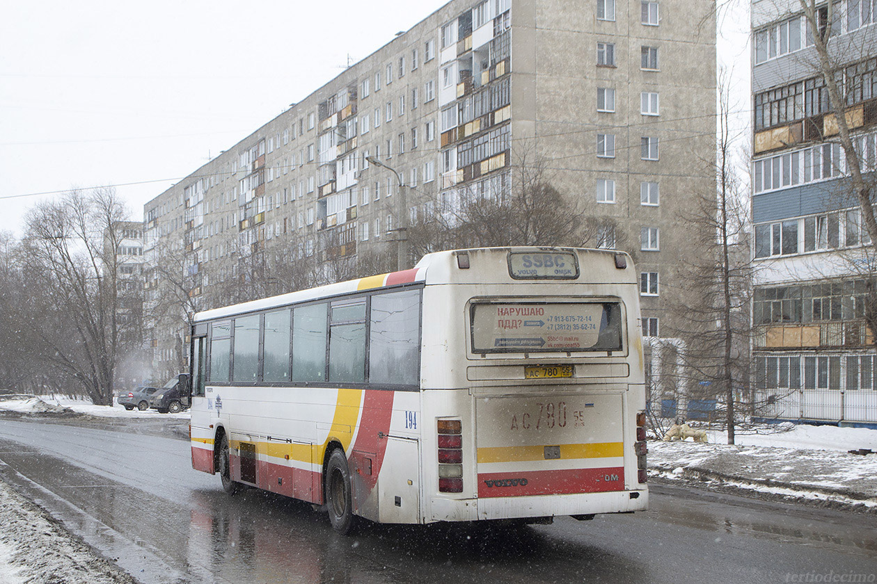
<svg viewBox="0 0 877 584">
<path fill-rule="evenodd" d="M 360 517 L 645 510 L 636 271 L 608 250 L 429 254 L 196 314 L 192 466 Z"/>
</svg>

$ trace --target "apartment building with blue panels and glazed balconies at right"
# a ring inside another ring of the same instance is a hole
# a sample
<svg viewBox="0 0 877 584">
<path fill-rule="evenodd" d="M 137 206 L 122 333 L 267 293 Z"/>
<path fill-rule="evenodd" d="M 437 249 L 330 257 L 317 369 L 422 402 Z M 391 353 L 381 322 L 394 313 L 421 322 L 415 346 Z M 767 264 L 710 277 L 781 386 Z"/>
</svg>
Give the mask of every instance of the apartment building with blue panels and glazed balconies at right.
<svg viewBox="0 0 877 584">
<path fill-rule="evenodd" d="M 873 0 L 816 8 L 863 172 L 877 153 Z M 873 244 L 853 193 L 815 39 L 798 0 L 752 3 L 753 355 L 759 412 L 877 422 L 865 306 Z"/>
</svg>

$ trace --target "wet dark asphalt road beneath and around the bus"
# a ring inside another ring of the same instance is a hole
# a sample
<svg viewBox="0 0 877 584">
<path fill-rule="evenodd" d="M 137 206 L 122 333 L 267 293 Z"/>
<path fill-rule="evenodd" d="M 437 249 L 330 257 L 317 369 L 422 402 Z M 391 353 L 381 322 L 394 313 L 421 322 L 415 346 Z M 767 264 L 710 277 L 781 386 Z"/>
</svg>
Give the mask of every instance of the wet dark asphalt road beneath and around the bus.
<svg viewBox="0 0 877 584">
<path fill-rule="evenodd" d="M 144 584 L 877 581 L 873 516 L 653 486 L 635 515 L 345 538 L 310 504 L 226 496 L 179 422 L 102 426 L 0 419 L 0 477 Z"/>
</svg>

